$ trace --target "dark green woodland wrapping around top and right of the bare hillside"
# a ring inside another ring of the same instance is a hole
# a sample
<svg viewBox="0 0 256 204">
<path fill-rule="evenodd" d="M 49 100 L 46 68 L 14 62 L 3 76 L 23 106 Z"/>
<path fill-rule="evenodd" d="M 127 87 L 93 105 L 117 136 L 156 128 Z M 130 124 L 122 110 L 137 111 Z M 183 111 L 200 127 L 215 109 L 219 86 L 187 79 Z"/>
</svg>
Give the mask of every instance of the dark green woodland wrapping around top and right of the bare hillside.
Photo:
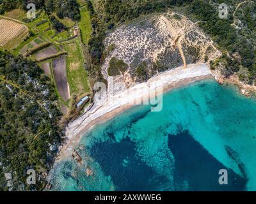
<svg viewBox="0 0 256 204">
<path fill-rule="evenodd" d="M 219 17 L 218 5 L 220 3 L 226 3 L 229 6 L 228 18 Z M 244 82 L 253 84 L 256 82 L 256 3 L 246 1 L 236 9 L 238 3 L 241 1 L 106 0 L 97 2 L 94 4 L 97 5 L 97 8 L 93 8 L 89 6 L 92 3 L 87 1 L 93 26 L 93 35 L 88 43 L 92 63 L 95 66 L 100 66 L 104 61 L 106 56 L 102 40 L 109 29 L 142 14 L 176 9 L 189 18 L 199 21 L 198 25 L 212 37 L 212 40 L 225 53 L 218 62 L 211 62 L 212 65 L 219 66 L 221 64 L 224 66 L 221 73 L 226 77 L 239 73 L 240 76 L 243 75 L 240 78 Z M 99 13 L 95 11 L 99 11 Z M 239 23 L 236 24 L 236 22 Z M 236 29 L 236 26 L 239 27 Z"/>
</svg>

